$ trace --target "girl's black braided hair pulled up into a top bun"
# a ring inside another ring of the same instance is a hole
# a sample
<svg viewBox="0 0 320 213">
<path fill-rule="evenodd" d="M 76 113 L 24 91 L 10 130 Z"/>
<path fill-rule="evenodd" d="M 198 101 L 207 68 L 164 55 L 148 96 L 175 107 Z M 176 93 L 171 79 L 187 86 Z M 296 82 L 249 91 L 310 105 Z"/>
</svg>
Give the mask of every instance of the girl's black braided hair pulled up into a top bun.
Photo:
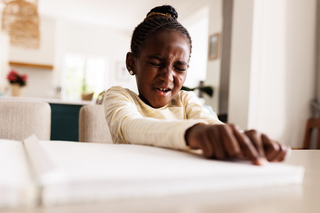
<svg viewBox="0 0 320 213">
<path fill-rule="evenodd" d="M 170 14 L 169 15 L 153 15 L 153 13 Z M 151 14 L 150 14 L 151 13 Z M 150 16 L 148 16 L 150 15 Z M 131 53 L 134 57 L 139 57 L 141 49 L 155 34 L 163 31 L 176 31 L 184 35 L 188 41 L 191 53 L 191 37 L 185 27 L 178 21 L 178 13 L 170 5 L 163 5 L 153 8 L 148 12 L 146 19 L 141 22 L 133 31 L 131 39 Z"/>
</svg>

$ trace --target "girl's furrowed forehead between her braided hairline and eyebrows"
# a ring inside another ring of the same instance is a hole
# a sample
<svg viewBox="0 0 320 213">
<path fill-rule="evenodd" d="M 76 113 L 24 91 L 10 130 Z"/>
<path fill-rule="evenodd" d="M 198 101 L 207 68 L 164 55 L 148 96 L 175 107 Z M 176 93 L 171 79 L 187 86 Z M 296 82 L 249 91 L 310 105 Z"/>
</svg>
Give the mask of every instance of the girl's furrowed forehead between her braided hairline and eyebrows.
<svg viewBox="0 0 320 213">
<path fill-rule="evenodd" d="M 167 54 L 173 54 L 188 61 L 190 46 L 187 38 L 176 31 L 165 31 L 150 37 L 141 50 L 141 56 Z"/>
</svg>

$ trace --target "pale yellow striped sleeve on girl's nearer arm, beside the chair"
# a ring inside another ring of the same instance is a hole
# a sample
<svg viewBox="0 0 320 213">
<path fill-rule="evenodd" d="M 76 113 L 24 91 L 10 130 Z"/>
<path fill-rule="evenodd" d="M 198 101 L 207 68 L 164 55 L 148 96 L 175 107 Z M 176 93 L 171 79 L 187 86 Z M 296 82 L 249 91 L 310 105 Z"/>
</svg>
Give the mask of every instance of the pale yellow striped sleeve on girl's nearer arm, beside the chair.
<svg viewBox="0 0 320 213">
<path fill-rule="evenodd" d="M 111 87 L 104 97 L 106 120 L 114 143 L 145 144 L 187 149 L 186 130 L 204 120 L 166 120 L 143 117 L 132 96 L 121 87 Z"/>
</svg>

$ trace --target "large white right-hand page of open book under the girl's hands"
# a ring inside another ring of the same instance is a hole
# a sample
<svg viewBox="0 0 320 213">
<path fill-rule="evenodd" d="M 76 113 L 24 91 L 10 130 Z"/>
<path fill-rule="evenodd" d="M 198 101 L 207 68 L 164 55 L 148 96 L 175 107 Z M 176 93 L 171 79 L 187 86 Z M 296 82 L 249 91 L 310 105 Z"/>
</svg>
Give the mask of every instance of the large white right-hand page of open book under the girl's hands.
<svg viewBox="0 0 320 213">
<path fill-rule="evenodd" d="M 301 183 L 304 168 L 208 160 L 142 145 L 38 141 L 50 162 L 42 203 L 96 202 Z"/>
</svg>

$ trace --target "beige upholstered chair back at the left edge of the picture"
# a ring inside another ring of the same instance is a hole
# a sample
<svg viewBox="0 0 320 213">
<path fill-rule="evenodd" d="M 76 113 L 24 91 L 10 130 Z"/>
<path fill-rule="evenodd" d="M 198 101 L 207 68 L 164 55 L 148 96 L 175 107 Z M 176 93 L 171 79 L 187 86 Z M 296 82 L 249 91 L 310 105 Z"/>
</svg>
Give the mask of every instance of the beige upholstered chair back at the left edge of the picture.
<svg viewBox="0 0 320 213">
<path fill-rule="evenodd" d="M 22 141 L 32 134 L 50 140 L 51 108 L 46 102 L 0 100 L 0 138 Z"/>
</svg>

